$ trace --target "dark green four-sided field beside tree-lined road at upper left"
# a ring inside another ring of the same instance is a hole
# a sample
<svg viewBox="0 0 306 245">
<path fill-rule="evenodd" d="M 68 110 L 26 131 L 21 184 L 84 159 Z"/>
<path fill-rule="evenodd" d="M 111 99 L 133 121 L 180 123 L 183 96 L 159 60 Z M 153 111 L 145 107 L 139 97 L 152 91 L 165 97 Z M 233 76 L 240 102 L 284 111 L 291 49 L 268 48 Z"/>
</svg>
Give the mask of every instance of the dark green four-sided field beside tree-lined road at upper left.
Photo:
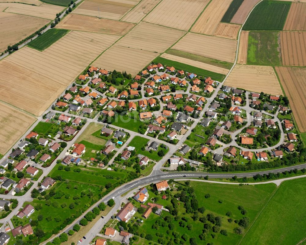
<svg viewBox="0 0 306 245">
<path fill-rule="evenodd" d="M 69 30 L 65 29 L 49 29 L 43 33 L 43 35 L 29 42 L 28 46 L 43 51 L 45 48 L 48 48 L 51 44 L 65 36 L 68 32 Z"/>
</svg>

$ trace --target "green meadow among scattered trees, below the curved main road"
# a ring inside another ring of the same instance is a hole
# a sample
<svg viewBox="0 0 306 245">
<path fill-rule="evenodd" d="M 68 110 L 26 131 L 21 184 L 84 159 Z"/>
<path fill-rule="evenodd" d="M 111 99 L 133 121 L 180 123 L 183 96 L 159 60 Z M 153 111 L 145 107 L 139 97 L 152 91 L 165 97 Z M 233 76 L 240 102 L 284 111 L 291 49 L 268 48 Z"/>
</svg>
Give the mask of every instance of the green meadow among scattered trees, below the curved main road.
<svg viewBox="0 0 306 245">
<path fill-rule="evenodd" d="M 176 184 L 177 185 L 177 184 Z M 247 210 L 247 215 L 250 220 L 254 220 L 256 214 L 262 208 L 263 204 L 267 200 L 267 198 L 271 195 L 273 190 L 275 189 L 274 184 L 265 184 L 265 185 L 254 185 L 254 186 L 238 186 L 238 185 L 224 185 L 224 184 L 212 184 L 212 183 L 204 183 L 204 182 L 191 182 L 191 185 L 195 190 L 196 199 L 199 203 L 199 207 L 204 206 L 206 211 L 204 212 L 204 216 L 207 213 L 214 213 L 215 216 L 222 217 L 222 229 L 226 229 L 228 231 L 228 236 L 221 235 L 219 232 L 213 233 L 209 232 L 207 235 L 207 239 L 205 241 L 200 240 L 199 235 L 203 232 L 203 223 L 199 220 L 193 220 L 191 217 L 193 216 L 192 213 L 186 213 L 186 209 L 184 208 L 184 204 L 179 201 L 180 205 L 177 207 L 178 211 L 178 219 L 172 220 L 171 224 L 174 224 L 174 229 L 167 234 L 169 228 L 159 226 L 158 229 L 152 228 L 152 225 L 155 224 L 156 220 L 159 220 L 159 216 L 153 213 L 147 219 L 144 219 L 144 223 L 141 224 L 138 228 L 139 234 L 150 233 L 153 236 L 153 241 L 158 242 L 159 234 L 163 235 L 163 243 L 167 244 L 169 239 L 174 239 L 172 232 L 178 232 L 180 235 L 178 236 L 178 240 L 181 240 L 181 235 L 187 234 L 189 238 L 195 237 L 197 244 L 208 244 L 214 243 L 215 245 L 221 244 L 237 244 L 238 241 L 241 239 L 241 235 L 234 234 L 233 228 L 237 227 L 238 225 L 234 222 L 229 223 L 227 219 L 229 217 L 226 216 L 226 212 L 232 212 L 231 218 L 233 220 L 239 220 L 243 217 L 241 211 L 238 210 L 238 206 L 241 205 L 244 209 Z M 150 189 L 150 187 L 147 187 Z M 177 193 L 177 191 L 173 191 L 172 194 Z M 209 198 L 205 198 L 204 195 L 209 193 L 211 196 Z M 149 190 L 149 201 L 152 197 L 155 197 L 155 194 Z M 169 195 L 167 195 L 169 197 Z M 162 200 L 161 195 L 159 195 L 159 200 L 156 202 L 158 204 L 167 206 L 171 205 L 171 198 L 167 200 Z M 222 200 L 222 203 L 219 202 Z M 135 205 L 138 207 L 140 204 L 134 202 Z M 146 202 L 147 203 L 147 202 Z M 163 211 L 162 217 L 170 215 L 168 212 Z M 199 214 L 200 217 L 203 216 L 201 213 Z M 140 217 L 141 214 L 138 212 L 136 213 L 136 218 Z M 170 215 L 172 219 L 174 216 Z M 192 229 L 188 230 L 186 227 L 181 227 L 179 222 L 181 218 L 187 218 L 187 224 L 192 225 Z M 142 218 L 143 219 L 143 218 Z M 211 233 L 215 234 L 215 238 L 213 239 L 210 235 Z M 179 244 L 179 241 L 177 242 Z M 187 244 L 187 243 L 185 243 Z M 188 243 L 189 244 L 189 243 Z"/>
</svg>

